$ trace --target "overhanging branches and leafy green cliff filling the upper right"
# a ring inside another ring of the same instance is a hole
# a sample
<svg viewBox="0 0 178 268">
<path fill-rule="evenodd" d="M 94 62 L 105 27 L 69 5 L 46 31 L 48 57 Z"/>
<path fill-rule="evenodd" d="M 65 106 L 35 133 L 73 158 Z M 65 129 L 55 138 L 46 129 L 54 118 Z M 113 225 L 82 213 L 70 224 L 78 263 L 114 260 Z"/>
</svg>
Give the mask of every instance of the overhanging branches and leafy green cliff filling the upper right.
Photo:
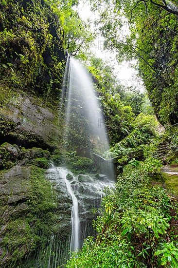
<svg viewBox="0 0 178 268">
<path fill-rule="evenodd" d="M 138 60 L 139 75 L 156 115 L 164 125 L 177 123 L 177 16 L 150 0 L 90 2 L 95 9 L 102 6 L 98 10 L 100 19 L 97 23 L 105 38 L 105 46 L 117 50 L 119 61 Z M 126 23 L 130 31 L 125 34 L 123 26 Z"/>
</svg>

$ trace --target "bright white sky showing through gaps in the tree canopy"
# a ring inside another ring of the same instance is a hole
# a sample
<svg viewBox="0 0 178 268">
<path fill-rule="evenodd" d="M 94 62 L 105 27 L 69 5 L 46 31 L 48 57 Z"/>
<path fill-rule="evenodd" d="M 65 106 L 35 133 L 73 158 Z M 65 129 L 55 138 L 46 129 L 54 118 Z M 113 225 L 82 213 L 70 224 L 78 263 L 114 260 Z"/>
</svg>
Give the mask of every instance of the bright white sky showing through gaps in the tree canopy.
<svg viewBox="0 0 178 268">
<path fill-rule="evenodd" d="M 102 8 L 102 6 L 100 6 Z M 77 7 L 77 11 L 79 16 L 84 21 L 90 20 L 91 30 L 95 30 L 94 20 L 99 18 L 99 13 L 92 12 L 90 9 L 89 1 L 80 0 L 79 5 Z M 123 35 L 129 33 L 128 24 L 125 24 L 123 27 Z M 123 61 L 122 64 L 119 64 L 116 60 L 116 52 L 110 52 L 108 50 L 103 49 L 104 38 L 102 36 L 98 36 L 95 39 L 93 46 L 91 47 L 91 51 L 96 57 L 100 57 L 106 62 L 109 63 L 110 66 L 113 66 L 114 73 L 120 80 L 121 84 L 126 86 L 136 86 L 141 92 L 144 91 L 143 83 L 141 78 L 138 78 L 137 71 L 130 67 L 129 65 L 134 65 L 137 62 L 126 62 Z"/>
</svg>

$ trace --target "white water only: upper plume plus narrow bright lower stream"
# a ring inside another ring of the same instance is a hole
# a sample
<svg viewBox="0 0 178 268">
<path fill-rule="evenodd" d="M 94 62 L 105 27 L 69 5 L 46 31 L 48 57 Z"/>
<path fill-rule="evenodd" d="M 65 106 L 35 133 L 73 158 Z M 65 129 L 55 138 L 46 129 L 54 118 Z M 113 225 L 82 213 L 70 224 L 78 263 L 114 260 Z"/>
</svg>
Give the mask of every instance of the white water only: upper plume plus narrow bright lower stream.
<svg viewBox="0 0 178 268">
<path fill-rule="evenodd" d="M 82 66 L 82 64 L 71 56 L 68 56 L 67 59 L 63 81 L 61 112 L 63 111 L 65 111 L 63 144 L 67 150 L 79 146 L 84 146 L 92 149 L 93 152 L 97 154 L 103 154 L 109 150 L 107 131 L 104 123 L 104 116 L 101 110 L 101 103 L 99 102 L 99 99 L 95 93 L 92 78 L 89 75 L 89 72 Z M 97 167 L 101 168 L 103 165 L 101 159 L 104 159 L 101 157 L 97 159 L 100 161 Z M 110 161 L 107 162 L 107 170 L 106 167 L 104 167 L 103 170 L 109 174 L 110 180 L 113 180 L 113 165 Z M 89 235 L 89 233 L 87 233 L 85 226 L 83 228 L 83 231 L 85 230 L 86 233 L 81 237 L 79 236 L 79 196 L 75 195 L 76 189 L 74 188 L 75 191 L 73 191 L 71 184 L 67 179 L 67 171 L 60 169 L 58 172 L 60 172 L 60 176 L 64 177 L 68 192 L 72 198 L 73 206 L 71 212 L 72 231 L 70 249 L 77 250 L 80 247 L 79 240 L 85 238 L 86 235 Z M 92 181 L 91 185 L 89 184 L 89 181 Z M 79 187 L 77 188 L 77 194 L 80 193 L 79 189 L 81 189 L 81 187 L 83 187 L 82 189 L 84 192 L 86 192 L 87 187 L 89 187 L 89 192 L 91 194 L 93 179 L 89 181 L 87 181 L 88 184 L 85 185 L 84 188 L 84 185 L 81 186 L 81 182 L 78 183 L 78 181 L 75 179 L 75 187 L 76 185 Z M 97 185 L 96 191 L 101 191 L 103 185 L 101 187 L 101 183 L 97 180 L 95 181 L 95 184 Z M 96 192 L 93 192 L 93 194 L 96 194 Z M 97 192 L 97 202 L 100 199 L 101 196 L 98 196 Z M 84 205 L 84 209 L 85 206 L 86 205 Z"/>
</svg>

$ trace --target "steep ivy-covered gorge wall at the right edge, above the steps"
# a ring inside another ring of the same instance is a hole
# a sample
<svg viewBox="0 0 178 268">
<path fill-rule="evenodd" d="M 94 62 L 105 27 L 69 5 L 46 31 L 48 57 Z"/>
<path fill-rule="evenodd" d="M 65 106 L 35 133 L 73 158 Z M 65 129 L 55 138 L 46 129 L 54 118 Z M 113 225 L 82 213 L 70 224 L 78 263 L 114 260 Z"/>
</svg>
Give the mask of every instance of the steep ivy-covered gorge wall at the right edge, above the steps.
<svg viewBox="0 0 178 268">
<path fill-rule="evenodd" d="M 164 126 L 178 123 L 178 18 L 148 6 L 137 21 L 137 56 L 155 114 Z"/>
</svg>

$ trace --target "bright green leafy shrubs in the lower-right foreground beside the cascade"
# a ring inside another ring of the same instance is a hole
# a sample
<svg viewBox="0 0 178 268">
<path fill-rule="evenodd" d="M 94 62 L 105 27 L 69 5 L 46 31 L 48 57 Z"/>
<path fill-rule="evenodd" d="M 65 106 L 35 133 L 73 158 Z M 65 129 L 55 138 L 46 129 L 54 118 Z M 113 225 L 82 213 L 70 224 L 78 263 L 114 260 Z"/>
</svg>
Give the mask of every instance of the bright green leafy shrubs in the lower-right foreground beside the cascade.
<svg viewBox="0 0 178 268">
<path fill-rule="evenodd" d="M 177 207 L 164 189 L 150 186 L 154 166 L 154 159 L 132 161 L 118 177 L 115 189 L 106 189 L 101 215 L 94 222 L 97 238 L 86 239 L 68 268 L 176 267 L 165 264 L 177 262 L 177 236 L 170 224 L 178 218 Z"/>
</svg>

